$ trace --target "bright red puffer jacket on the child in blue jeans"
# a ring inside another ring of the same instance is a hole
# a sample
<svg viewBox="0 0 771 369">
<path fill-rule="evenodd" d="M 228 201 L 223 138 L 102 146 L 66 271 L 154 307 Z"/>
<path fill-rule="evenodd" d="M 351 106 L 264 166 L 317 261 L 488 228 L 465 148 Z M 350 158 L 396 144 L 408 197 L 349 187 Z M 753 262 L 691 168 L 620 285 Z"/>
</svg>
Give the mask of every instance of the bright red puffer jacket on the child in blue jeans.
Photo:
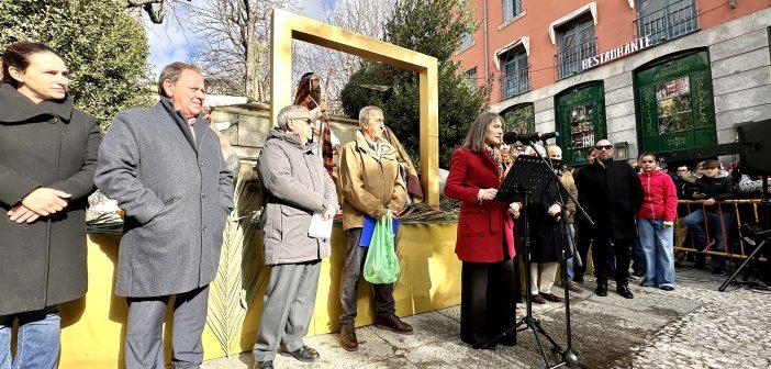
<svg viewBox="0 0 771 369">
<path fill-rule="evenodd" d="M 648 220 L 674 222 L 678 217 L 678 190 L 672 178 L 663 170 L 637 175 L 640 177 L 645 197 L 637 216 Z"/>
</svg>

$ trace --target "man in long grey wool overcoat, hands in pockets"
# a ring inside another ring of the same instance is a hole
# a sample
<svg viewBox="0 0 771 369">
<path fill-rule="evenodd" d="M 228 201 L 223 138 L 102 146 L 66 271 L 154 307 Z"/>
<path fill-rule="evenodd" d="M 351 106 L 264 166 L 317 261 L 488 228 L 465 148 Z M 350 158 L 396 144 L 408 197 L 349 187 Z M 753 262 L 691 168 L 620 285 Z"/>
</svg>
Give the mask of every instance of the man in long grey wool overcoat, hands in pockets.
<svg viewBox="0 0 771 369">
<path fill-rule="evenodd" d="M 115 293 L 128 302 L 126 368 L 164 367 L 163 323 L 175 294 L 172 364 L 197 368 L 233 174 L 203 120 L 200 69 L 172 63 L 158 90 L 155 107 L 115 116 L 94 180 L 125 211 Z"/>
</svg>

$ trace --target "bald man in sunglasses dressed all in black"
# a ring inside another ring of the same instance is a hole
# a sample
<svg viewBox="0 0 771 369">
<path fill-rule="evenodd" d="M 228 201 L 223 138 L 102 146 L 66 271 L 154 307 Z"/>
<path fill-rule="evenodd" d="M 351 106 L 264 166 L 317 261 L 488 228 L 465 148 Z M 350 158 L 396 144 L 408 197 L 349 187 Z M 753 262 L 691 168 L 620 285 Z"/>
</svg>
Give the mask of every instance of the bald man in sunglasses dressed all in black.
<svg viewBox="0 0 771 369">
<path fill-rule="evenodd" d="M 594 145 L 596 160 L 576 175 L 579 203 L 595 225 L 579 216 L 582 232 L 594 239 L 592 259 L 597 278 L 596 294 L 607 295 L 607 254 L 613 245 L 616 256 L 616 291 L 624 298 L 634 295 L 628 289 L 629 247 L 637 237 L 635 216 L 642 204 L 642 185 L 632 166 L 613 160 L 613 144 L 601 139 Z"/>
</svg>

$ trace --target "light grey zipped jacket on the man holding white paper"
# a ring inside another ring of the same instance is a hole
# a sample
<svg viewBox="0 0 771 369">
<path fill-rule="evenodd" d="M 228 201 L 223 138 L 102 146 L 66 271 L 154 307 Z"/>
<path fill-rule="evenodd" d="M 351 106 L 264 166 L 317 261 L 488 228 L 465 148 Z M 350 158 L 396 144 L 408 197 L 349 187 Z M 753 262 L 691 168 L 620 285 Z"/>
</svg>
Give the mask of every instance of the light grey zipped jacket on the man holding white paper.
<svg viewBox="0 0 771 369">
<path fill-rule="evenodd" d="M 302 146 L 300 136 L 272 130 L 259 156 L 265 186 L 262 248 L 266 265 L 303 262 L 328 257 L 328 239 L 308 235 L 314 212 L 337 211 L 335 183 L 314 154 L 315 144 Z"/>
</svg>

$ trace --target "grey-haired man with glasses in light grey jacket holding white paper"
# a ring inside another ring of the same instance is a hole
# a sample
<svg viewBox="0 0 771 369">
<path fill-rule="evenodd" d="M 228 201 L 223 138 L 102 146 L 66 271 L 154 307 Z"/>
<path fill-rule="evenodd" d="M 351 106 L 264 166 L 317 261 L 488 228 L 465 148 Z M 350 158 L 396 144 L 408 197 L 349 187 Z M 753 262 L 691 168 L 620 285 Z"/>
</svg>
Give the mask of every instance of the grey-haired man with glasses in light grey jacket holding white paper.
<svg viewBox="0 0 771 369">
<path fill-rule="evenodd" d="M 276 350 L 300 361 L 319 360 L 302 337 L 313 315 L 322 258 L 332 253 L 329 239 L 309 232 L 311 220 L 337 213 L 332 178 L 310 143 L 308 109 L 289 105 L 278 113 L 278 128 L 265 138 L 259 156 L 262 191 L 262 257 L 270 266 L 262 316 L 253 354 L 255 368 L 272 368 Z M 314 215 L 315 214 L 315 215 Z"/>
</svg>

